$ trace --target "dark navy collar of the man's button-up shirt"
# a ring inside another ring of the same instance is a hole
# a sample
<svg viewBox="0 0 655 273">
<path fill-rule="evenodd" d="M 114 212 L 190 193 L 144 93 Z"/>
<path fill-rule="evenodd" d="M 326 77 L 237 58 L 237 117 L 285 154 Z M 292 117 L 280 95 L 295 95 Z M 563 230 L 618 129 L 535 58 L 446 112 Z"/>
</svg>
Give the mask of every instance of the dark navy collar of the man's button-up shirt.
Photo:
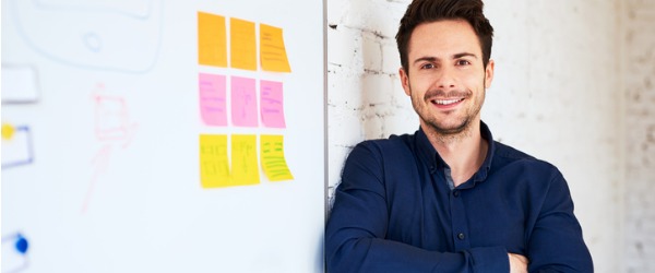
<svg viewBox="0 0 655 273">
<path fill-rule="evenodd" d="M 476 171 L 473 176 L 474 185 L 476 182 L 481 182 L 485 181 L 485 179 L 487 179 L 487 175 L 489 173 L 489 169 L 491 168 L 491 159 L 493 158 L 493 154 L 496 152 L 496 145 L 493 143 L 493 136 L 491 135 L 491 131 L 489 130 L 489 127 L 487 127 L 487 124 L 483 121 L 480 121 L 480 134 L 483 139 L 487 141 L 487 144 L 489 144 L 489 149 L 487 150 L 487 156 L 485 157 L 485 162 L 483 163 L 478 171 Z M 432 146 L 432 143 L 430 143 L 428 136 L 420 127 L 418 128 L 418 131 L 416 131 L 416 147 L 418 156 L 425 163 L 428 164 L 430 174 L 433 174 L 434 171 L 443 169 L 448 166 L 443 158 L 441 158 L 434 146 Z"/>
</svg>

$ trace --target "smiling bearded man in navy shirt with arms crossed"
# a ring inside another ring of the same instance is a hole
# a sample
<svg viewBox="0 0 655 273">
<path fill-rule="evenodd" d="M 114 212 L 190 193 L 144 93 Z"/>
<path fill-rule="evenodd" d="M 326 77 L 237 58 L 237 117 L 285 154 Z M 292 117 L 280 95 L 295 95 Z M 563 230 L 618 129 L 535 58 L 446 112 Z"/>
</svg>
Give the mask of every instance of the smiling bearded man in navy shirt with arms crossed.
<svg viewBox="0 0 655 273">
<path fill-rule="evenodd" d="M 396 35 L 415 134 L 365 141 L 326 225 L 330 272 L 593 272 L 567 181 L 495 142 L 481 0 L 415 0 Z"/>
</svg>

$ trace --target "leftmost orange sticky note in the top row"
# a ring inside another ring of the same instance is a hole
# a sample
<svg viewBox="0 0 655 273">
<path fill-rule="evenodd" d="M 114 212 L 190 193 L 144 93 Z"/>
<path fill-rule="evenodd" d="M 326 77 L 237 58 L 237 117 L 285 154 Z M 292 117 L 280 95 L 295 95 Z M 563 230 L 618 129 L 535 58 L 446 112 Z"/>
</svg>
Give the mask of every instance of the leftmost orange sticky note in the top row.
<svg viewBox="0 0 655 273">
<path fill-rule="evenodd" d="M 198 62 L 227 68 L 225 17 L 198 12 Z"/>
</svg>

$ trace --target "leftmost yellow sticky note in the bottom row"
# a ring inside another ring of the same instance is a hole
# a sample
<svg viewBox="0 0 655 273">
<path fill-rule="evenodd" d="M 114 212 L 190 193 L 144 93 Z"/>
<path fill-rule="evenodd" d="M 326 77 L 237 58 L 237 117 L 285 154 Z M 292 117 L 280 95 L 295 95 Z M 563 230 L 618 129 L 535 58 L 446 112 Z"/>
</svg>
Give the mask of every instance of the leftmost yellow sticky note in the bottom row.
<svg viewBox="0 0 655 273">
<path fill-rule="evenodd" d="M 200 135 L 200 183 L 205 189 L 231 186 L 227 161 L 227 135 Z"/>
</svg>

